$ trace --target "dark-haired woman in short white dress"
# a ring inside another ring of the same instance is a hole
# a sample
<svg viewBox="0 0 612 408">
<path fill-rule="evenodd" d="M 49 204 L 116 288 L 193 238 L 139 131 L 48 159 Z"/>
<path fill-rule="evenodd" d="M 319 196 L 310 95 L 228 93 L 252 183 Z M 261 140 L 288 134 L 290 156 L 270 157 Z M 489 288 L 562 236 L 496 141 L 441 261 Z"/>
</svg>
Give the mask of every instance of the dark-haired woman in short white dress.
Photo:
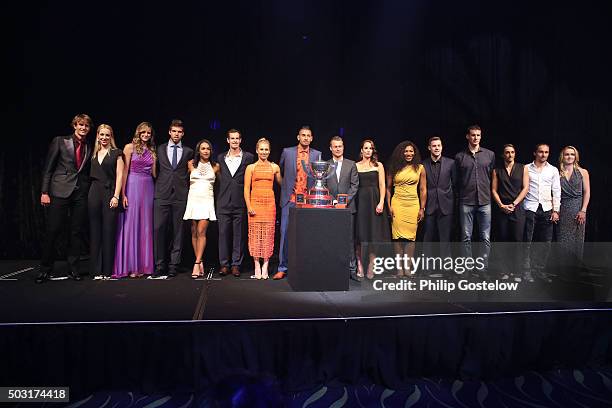
<svg viewBox="0 0 612 408">
<path fill-rule="evenodd" d="M 189 168 L 189 195 L 184 220 L 191 220 L 191 245 L 195 253 L 195 263 L 191 277 L 204 276 L 202 256 L 206 248 L 206 229 L 209 221 L 217 221 L 213 185 L 219 172 L 219 164 L 211 162 L 212 144 L 202 139 L 195 148 L 193 160 L 187 162 Z"/>
</svg>

